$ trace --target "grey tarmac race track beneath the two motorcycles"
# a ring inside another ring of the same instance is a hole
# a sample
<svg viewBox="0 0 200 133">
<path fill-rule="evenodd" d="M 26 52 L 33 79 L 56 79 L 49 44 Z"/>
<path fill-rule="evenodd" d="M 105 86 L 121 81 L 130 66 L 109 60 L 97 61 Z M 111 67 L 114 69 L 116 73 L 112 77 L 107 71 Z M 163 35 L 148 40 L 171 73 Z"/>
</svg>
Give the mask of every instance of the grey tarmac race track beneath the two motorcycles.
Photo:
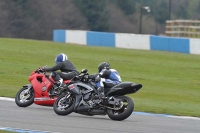
<svg viewBox="0 0 200 133">
<path fill-rule="evenodd" d="M 52 107 L 21 108 L 13 101 L 0 100 L 0 127 L 39 130 L 40 133 L 200 133 L 200 119 L 132 114 L 124 121 L 113 121 L 108 116 L 76 113 L 58 116 Z"/>
</svg>

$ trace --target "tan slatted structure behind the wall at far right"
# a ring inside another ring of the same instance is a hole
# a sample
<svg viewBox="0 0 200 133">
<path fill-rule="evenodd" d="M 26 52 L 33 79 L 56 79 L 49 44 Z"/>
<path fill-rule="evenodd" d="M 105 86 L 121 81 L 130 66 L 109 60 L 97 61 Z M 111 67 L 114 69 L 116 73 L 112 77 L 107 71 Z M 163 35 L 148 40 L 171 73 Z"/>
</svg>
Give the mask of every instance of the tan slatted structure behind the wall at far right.
<svg viewBox="0 0 200 133">
<path fill-rule="evenodd" d="M 200 20 L 167 20 L 166 36 L 200 38 Z"/>
</svg>

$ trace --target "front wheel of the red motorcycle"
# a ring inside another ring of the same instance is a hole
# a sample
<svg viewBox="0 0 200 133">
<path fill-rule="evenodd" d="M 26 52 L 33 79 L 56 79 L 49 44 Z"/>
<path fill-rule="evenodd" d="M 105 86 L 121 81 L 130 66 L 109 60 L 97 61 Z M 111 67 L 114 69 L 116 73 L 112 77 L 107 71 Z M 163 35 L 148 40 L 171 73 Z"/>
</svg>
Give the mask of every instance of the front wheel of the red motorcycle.
<svg viewBox="0 0 200 133">
<path fill-rule="evenodd" d="M 29 92 L 26 93 L 26 90 L 28 87 L 23 87 L 18 91 L 15 97 L 15 103 L 19 107 L 27 107 L 33 104 L 34 102 L 34 92 L 32 89 L 29 90 Z"/>
</svg>

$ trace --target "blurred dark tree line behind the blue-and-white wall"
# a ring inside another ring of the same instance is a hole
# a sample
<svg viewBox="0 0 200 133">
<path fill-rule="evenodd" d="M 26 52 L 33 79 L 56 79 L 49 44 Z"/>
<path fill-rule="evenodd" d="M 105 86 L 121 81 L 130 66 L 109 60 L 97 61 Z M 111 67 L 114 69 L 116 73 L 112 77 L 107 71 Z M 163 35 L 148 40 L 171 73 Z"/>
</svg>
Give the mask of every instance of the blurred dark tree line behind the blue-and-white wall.
<svg viewBox="0 0 200 133">
<path fill-rule="evenodd" d="M 54 29 L 138 34 L 140 25 L 142 34 L 159 35 L 166 20 L 200 19 L 199 11 L 199 0 L 1 0 L 0 36 L 52 40 Z"/>
</svg>

